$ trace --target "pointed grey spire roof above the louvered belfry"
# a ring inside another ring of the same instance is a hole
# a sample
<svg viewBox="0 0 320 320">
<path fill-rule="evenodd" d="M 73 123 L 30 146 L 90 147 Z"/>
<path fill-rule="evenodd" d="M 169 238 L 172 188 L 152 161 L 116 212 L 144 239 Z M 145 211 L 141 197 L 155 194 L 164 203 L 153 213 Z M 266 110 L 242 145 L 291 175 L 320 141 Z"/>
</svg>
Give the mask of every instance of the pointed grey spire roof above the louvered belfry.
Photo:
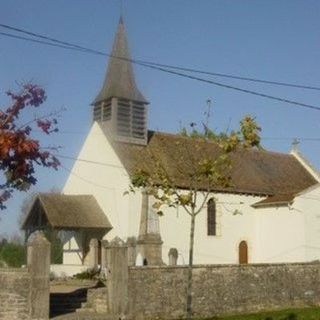
<svg viewBox="0 0 320 320">
<path fill-rule="evenodd" d="M 120 18 L 106 77 L 94 105 L 112 97 L 148 103 L 136 85 L 130 59 L 125 27 Z"/>
</svg>

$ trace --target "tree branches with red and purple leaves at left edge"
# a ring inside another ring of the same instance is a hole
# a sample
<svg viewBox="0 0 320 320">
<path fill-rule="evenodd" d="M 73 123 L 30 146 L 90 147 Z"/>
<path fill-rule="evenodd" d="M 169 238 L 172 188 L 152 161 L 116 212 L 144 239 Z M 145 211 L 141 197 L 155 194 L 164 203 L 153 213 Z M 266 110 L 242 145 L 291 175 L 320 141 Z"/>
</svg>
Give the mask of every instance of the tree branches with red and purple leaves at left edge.
<svg viewBox="0 0 320 320">
<path fill-rule="evenodd" d="M 34 84 L 24 84 L 19 92 L 8 91 L 11 102 L 0 110 L 0 209 L 14 190 L 25 191 L 36 184 L 35 166 L 57 169 L 59 160 L 52 154 L 53 148 L 44 148 L 31 137 L 39 128 L 45 134 L 58 131 L 55 114 L 34 116 L 27 123 L 20 123 L 21 112 L 39 107 L 45 100 L 45 91 Z"/>
</svg>

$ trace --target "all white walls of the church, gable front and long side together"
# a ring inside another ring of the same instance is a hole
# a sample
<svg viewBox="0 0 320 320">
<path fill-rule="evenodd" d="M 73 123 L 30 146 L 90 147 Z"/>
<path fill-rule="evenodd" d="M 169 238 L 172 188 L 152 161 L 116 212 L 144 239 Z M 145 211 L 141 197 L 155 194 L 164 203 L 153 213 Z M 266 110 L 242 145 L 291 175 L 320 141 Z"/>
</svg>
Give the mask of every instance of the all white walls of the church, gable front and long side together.
<svg viewBox="0 0 320 320">
<path fill-rule="evenodd" d="M 63 192 L 95 196 L 113 226 L 106 239 L 138 236 L 141 195 L 124 195 L 129 187 L 129 177 L 96 123 L 80 151 L 79 159 L 103 165 L 76 161 Z M 254 209 L 251 205 L 260 201 L 261 197 L 232 194 L 214 196 L 217 199 L 217 236 L 207 236 L 204 208 L 196 218 L 195 263 L 238 263 L 238 246 L 242 240 L 248 243 L 251 263 L 305 261 L 319 256 L 318 249 L 312 249 L 314 246 L 320 248 L 317 201 L 314 200 L 310 207 L 310 199 L 297 198 L 293 206 L 297 207 L 295 210 L 288 207 Z M 320 198 L 319 190 L 317 197 Z M 238 213 L 234 214 L 236 210 Z M 308 215 L 304 214 L 306 212 Z M 160 217 L 165 263 L 168 262 L 170 248 L 178 249 L 180 263 L 188 262 L 189 229 L 190 217 L 182 207 L 167 208 L 165 215 Z M 76 260 L 66 256 L 69 263 Z"/>
</svg>

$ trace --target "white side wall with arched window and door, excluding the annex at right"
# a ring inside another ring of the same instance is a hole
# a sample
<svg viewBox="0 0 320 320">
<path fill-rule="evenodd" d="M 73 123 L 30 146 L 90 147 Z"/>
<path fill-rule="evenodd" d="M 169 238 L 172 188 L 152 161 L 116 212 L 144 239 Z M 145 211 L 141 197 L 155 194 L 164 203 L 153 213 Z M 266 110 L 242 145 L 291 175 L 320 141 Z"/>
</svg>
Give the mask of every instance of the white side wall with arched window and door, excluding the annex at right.
<svg viewBox="0 0 320 320">
<path fill-rule="evenodd" d="M 249 262 L 257 256 L 255 212 L 250 206 L 257 197 L 215 194 L 217 235 L 207 235 L 207 207 L 196 217 L 194 263 L 238 263 L 238 246 L 248 244 Z M 199 198 L 199 201 L 202 199 Z M 166 210 L 160 217 L 163 260 L 168 262 L 168 251 L 177 248 L 179 264 L 188 263 L 190 216 L 182 207 Z"/>
</svg>

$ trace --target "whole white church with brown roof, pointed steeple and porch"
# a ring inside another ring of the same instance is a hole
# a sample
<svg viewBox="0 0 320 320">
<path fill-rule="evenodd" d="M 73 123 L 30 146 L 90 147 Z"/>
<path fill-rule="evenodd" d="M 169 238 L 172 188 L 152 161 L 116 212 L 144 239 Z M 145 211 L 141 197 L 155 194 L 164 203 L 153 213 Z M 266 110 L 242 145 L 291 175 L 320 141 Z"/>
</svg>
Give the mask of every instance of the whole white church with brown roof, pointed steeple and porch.
<svg viewBox="0 0 320 320">
<path fill-rule="evenodd" d="M 167 207 L 159 217 L 151 196 L 127 193 L 137 165 L 152 169 L 155 154 L 181 189 L 186 188 L 175 158 L 184 153 L 182 148 L 196 152 L 194 139 L 149 131 L 149 107 L 135 81 L 120 19 L 106 76 L 92 103 L 92 126 L 78 160 L 62 194 L 39 194 L 23 226 L 29 234 L 43 226 L 61 231 L 61 268 L 65 266 L 68 273 L 90 264 L 92 239 L 99 245 L 115 237 L 133 241 L 135 258 L 138 261 L 139 256 L 144 264 L 169 264 L 172 252 L 178 264 L 188 263 L 190 217 L 184 209 Z M 203 142 L 202 148 L 212 157 L 217 154 L 214 142 Z M 320 178 L 316 170 L 297 150 L 290 154 L 237 150 L 232 159 L 232 187 L 213 189 L 196 219 L 194 263 L 319 260 Z"/>
</svg>

